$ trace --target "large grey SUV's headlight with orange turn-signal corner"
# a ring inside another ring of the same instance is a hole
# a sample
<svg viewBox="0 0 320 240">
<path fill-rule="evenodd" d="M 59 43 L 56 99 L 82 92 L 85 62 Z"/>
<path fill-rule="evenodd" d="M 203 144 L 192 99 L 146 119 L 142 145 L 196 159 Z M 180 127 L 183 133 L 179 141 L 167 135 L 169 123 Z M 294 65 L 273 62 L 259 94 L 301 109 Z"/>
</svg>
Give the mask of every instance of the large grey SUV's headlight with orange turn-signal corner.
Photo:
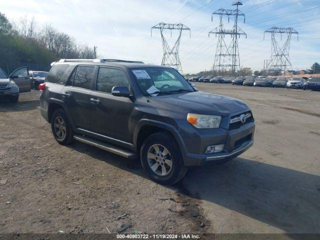
<svg viewBox="0 0 320 240">
<path fill-rule="evenodd" d="M 196 128 L 218 128 L 221 116 L 188 113 L 187 121 Z"/>
</svg>

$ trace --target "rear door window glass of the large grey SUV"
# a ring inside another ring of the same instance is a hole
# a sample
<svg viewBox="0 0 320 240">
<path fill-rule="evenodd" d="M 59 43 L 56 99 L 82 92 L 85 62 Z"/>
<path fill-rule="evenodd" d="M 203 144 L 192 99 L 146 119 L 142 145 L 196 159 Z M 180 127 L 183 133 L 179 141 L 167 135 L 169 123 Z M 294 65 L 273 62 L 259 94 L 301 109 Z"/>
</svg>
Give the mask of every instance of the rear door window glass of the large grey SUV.
<svg viewBox="0 0 320 240">
<path fill-rule="evenodd" d="M 91 89 L 93 72 L 94 66 L 78 66 L 72 73 L 68 84 L 75 87 Z"/>
</svg>

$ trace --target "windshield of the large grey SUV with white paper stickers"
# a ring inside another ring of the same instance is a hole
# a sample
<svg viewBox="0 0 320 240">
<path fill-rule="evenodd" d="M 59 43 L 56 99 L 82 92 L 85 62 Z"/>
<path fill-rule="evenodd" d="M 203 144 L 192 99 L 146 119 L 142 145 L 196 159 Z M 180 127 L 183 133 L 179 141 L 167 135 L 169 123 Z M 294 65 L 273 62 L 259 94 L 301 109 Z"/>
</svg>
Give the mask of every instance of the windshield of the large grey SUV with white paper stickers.
<svg viewBox="0 0 320 240">
<path fill-rule="evenodd" d="M 143 94 L 175 94 L 192 92 L 194 89 L 173 68 L 138 67 L 131 68 L 137 85 Z"/>
</svg>

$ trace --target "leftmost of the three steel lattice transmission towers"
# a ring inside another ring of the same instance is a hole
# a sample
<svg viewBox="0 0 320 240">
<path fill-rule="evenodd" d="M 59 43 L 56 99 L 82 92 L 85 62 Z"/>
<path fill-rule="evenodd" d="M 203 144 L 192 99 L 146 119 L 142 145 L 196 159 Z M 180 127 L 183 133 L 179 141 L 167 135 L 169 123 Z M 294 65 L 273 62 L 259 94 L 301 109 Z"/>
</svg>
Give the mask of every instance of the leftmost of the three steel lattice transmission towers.
<svg viewBox="0 0 320 240">
<path fill-rule="evenodd" d="M 190 37 L 191 37 L 190 28 L 183 25 L 182 23 L 170 24 L 170 23 L 160 22 L 159 24 L 151 27 L 151 36 L 152 36 L 152 29 L 160 29 L 162 47 L 163 47 L 163 57 L 162 57 L 161 65 L 173 67 L 177 71 L 179 71 L 181 74 L 183 74 L 182 66 L 179 58 L 179 45 L 180 45 L 180 39 L 181 39 L 181 34 L 183 30 L 190 31 Z M 178 37 L 173 47 L 170 47 L 168 42 L 165 39 L 165 36 L 163 34 L 163 31 L 165 29 L 169 29 L 171 31 L 171 37 L 172 37 L 172 30 L 178 30 Z"/>
</svg>

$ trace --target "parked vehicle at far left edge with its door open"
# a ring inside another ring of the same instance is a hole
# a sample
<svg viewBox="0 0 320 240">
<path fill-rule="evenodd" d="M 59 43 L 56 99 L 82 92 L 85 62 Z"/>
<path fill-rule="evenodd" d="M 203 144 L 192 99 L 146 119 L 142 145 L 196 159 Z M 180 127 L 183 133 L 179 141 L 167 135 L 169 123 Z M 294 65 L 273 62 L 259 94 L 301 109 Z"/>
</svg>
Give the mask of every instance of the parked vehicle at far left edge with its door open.
<svg viewBox="0 0 320 240">
<path fill-rule="evenodd" d="M 0 97 L 17 102 L 19 92 L 30 91 L 30 78 L 27 67 L 15 69 L 9 76 L 0 68 Z"/>
</svg>

